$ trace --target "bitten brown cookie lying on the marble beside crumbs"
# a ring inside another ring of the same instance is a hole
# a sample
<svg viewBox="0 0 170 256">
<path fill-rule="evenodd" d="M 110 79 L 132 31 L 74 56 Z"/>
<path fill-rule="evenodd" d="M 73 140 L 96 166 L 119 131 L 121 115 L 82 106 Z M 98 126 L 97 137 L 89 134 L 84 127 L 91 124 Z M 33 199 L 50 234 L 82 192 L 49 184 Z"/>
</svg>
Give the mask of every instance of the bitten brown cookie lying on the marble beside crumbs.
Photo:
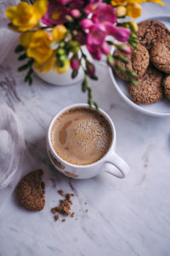
<svg viewBox="0 0 170 256">
<path fill-rule="evenodd" d="M 28 173 L 20 180 L 16 193 L 20 205 L 30 211 L 41 211 L 45 205 L 44 188 L 42 182 L 42 170 Z"/>
</svg>

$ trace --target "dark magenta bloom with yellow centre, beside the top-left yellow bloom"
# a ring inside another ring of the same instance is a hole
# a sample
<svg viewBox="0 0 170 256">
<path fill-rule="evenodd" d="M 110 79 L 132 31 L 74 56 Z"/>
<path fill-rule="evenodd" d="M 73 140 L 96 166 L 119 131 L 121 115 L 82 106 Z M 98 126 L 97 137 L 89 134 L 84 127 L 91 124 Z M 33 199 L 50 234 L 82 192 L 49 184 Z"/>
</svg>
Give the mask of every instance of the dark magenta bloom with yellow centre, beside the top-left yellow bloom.
<svg viewBox="0 0 170 256">
<path fill-rule="evenodd" d="M 47 26 L 59 25 L 65 23 L 65 15 L 68 14 L 68 9 L 65 5 L 51 0 L 48 3 L 48 11 L 42 17 L 42 22 Z"/>
</svg>

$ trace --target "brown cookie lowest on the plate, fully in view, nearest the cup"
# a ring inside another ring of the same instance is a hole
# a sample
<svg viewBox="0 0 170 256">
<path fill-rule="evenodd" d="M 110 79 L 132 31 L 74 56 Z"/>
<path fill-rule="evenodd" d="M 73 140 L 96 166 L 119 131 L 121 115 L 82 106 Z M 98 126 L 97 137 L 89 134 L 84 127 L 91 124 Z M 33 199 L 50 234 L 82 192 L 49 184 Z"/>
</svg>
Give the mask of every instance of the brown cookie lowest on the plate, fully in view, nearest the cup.
<svg viewBox="0 0 170 256">
<path fill-rule="evenodd" d="M 159 102 L 163 96 L 162 79 L 162 73 L 154 67 L 149 67 L 144 76 L 137 79 L 138 86 L 128 84 L 128 91 L 133 102 L 138 104 Z"/>
</svg>

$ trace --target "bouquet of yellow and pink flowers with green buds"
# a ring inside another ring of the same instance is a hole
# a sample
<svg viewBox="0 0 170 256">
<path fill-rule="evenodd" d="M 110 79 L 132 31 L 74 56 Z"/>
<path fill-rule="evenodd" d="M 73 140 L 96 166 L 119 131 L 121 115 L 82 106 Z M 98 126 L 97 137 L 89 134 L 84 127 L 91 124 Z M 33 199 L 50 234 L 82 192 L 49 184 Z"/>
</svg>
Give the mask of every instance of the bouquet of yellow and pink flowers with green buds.
<svg viewBox="0 0 170 256">
<path fill-rule="evenodd" d="M 164 4 L 160 0 L 37 0 L 32 4 L 20 2 L 8 7 L 8 26 L 20 32 L 20 44 L 15 52 L 20 53 L 19 61 L 27 60 L 19 67 L 19 71 L 28 71 L 25 81 L 32 84 L 33 69 L 48 73 L 53 68 L 57 73 L 65 73 L 71 67 L 71 78 L 74 79 L 82 67 L 82 91 L 88 92 L 88 104 L 98 108 L 88 83 L 88 78 L 98 78 L 94 63 L 88 60 L 82 45 L 86 45 L 94 60 L 99 61 L 102 55 L 106 55 L 111 67 L 116 58 L 126 62 L 125 58 L 111 55 L 111 45 L 130 54 L 129 44 L 138 48 L 135 34 L 138 26 L 133 20 L 120 23 L 117 18 L 137 18 L 141 15 L 139 3 L 145 2 Z M 112 39 L 109 40 L 108 36 Z M 121 71 L 136 85 L 134 73 Z"/>
</svg>

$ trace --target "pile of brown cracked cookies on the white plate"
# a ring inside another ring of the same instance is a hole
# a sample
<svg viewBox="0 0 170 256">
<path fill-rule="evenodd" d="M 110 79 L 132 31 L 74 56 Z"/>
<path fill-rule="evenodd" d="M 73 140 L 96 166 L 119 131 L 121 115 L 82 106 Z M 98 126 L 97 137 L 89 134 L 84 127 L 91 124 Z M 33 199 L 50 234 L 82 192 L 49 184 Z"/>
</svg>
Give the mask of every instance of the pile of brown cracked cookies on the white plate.
<svg viewBox="0 0 170 256">
<path fill-rule="evenodd" d="M 165 95 L 170 99 L 170 32 L 157 20 L 139 23 L 139 49 L 132 49 L 125 55 L 116 49 L 114 55 L 127 58 L 128 63 L 116 61 L 116 65 L 136 73 L 138 86 L 128 84 L 133 102 L 152 104 L 159 102 Z M 128 77 L 114 68 L 123 80 Z M 169 74 L 169 75 L 168 75 Z"/>
</svg>

